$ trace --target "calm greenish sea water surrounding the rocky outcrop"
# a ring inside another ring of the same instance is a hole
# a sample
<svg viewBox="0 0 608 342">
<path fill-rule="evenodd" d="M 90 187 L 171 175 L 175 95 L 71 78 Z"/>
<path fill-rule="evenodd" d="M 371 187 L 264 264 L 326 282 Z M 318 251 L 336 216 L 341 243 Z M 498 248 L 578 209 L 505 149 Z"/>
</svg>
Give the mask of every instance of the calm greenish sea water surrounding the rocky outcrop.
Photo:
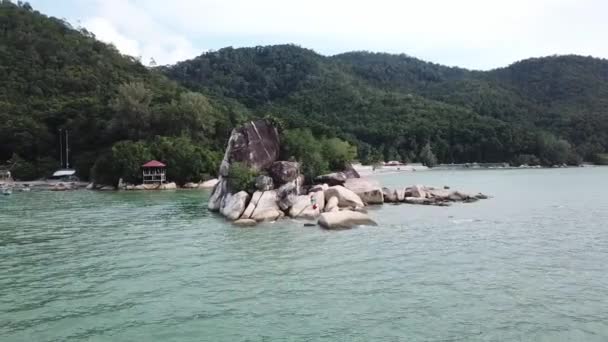
<svg viewBox="0 0 608 342">
<path fill-rule="evenodd" d="M 378 227 L 237 228 L 208 192 L 0 198 L 0 341 L 608 341 L 608 168 L 430 171 Z"/>
</svg>

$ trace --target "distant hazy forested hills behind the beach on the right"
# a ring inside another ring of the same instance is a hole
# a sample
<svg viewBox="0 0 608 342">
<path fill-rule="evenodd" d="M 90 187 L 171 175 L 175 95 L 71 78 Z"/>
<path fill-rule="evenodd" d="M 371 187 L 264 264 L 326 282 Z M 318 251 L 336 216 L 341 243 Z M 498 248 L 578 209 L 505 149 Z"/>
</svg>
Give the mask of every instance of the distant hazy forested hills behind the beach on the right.
<svg viewBox="0 0 608 342">
<path fill-rule="evenodd" d="M 163 67 L 289 126 L 356 141 L 359 155 L 441 162 L 592 160 L 608 148 L 608 61 L 555 56 L 482 72 L 406 55 L 326 57 L 294 45 L 225 48 Z"/>
</svg>

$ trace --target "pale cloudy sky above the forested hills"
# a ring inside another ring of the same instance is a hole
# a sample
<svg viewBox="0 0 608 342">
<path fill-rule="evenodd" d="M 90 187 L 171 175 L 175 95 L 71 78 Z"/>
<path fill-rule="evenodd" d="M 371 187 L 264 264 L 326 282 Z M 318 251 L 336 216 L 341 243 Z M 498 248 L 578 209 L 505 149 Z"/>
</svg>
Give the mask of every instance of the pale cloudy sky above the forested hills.
<svg viewBox="0 0 608 342">
<path fill-rule="evenodd" d="M 606 0 L 29 0 L 158 65 L 226 46 L 405 53 L 488 70 L 529 57 L 608 57 Z"/>
</svg>

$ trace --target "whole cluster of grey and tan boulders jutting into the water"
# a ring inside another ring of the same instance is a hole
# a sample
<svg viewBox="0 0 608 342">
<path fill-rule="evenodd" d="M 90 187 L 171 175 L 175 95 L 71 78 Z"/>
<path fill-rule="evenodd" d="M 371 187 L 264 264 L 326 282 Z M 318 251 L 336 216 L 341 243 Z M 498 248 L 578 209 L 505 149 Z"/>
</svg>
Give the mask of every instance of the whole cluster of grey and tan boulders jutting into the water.
<svg viewBox="0 0 608 342">
<path fill-rule="evenodd" d="M 385 202 L 449 205 L 485 197 L 423 186 L 390 190 L 374 180 L 360 178 L 352 167 L 319 176 L 315 179 L 316 185 L 306 186 L 297 162 L 277 160 L 279 148 L 278 133 L 266 121 L 250 122 L 234 129 L 208 208 L 238 226 L 291 217 L 318 219 L 321 227 L 343 229 L 376 225 L 365 212 L 368 205 Z M 263 174 L 256 178 L 253 193 L 230 189 L 230 165 L 236 162 Z"/>
</svg>

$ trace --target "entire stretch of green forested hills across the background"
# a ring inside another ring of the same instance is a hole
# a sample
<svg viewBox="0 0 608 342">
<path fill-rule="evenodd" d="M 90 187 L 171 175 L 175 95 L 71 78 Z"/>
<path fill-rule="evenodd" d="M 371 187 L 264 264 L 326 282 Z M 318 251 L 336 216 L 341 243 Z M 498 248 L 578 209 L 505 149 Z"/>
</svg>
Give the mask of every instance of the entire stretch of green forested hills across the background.
<svg viewBox="0 0 608 342">
<path fill-rule="evenodd" d="M 59 167 L 69 130 L 82 178 L 137 181 L 155 158 L 170 178 L 199 180 L 217 171 L 231 128 L 254 117 L 282 124 L 285 157 L 309 158 L 309 176 L 353 156 L 336 137 L 363 162 L 575 164 L 608 148 L 608 62 L 558 56 L 480 72 L 277 45 L 150 69 L 0 0 L 0 168 L 21 179 Z"/>
</svg>

